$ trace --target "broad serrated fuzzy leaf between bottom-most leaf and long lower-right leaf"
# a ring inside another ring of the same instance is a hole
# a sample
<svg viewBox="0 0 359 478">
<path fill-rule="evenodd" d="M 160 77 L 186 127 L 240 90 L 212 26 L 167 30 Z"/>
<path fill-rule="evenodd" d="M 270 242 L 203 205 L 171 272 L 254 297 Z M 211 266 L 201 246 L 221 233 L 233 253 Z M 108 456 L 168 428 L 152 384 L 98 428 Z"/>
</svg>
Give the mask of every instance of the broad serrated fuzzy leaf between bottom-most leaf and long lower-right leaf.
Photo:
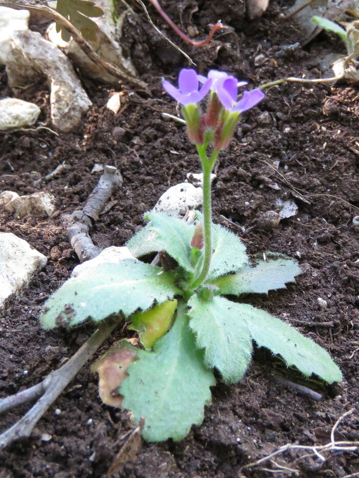
<svg viewBox="0 0 359 478">
<path fill-rule="evenodd" d="M 197 346 L 205 349 L 206 365 L 216 367 L 225 382 L 238 382 L 251 361 L 252 337 L 236 304 L 224 297 L 205 302 L 192 296 L 188 306 L 189 325 Z"/>
</svg>

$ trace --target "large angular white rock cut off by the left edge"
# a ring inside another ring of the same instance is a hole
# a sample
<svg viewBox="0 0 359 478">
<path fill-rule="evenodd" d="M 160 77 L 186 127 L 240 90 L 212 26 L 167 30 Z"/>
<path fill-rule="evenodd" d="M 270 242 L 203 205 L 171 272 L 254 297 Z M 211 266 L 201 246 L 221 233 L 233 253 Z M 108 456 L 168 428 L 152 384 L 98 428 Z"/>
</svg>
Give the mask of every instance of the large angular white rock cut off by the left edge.
<svg viewBox="0 0 359 478">
<path fill-rule="evenodd" d="M 43 254 L 12 233 L 0 233 L 0 307 L 44 267 Z"/>
</svg>

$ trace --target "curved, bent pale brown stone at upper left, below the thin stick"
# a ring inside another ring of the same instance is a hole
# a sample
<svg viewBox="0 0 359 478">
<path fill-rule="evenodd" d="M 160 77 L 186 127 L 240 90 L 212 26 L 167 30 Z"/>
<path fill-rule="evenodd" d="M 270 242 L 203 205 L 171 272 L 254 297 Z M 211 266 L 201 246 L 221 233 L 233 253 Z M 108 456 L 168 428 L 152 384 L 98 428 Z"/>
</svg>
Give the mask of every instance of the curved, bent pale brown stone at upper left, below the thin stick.
<svg viewBox="0 0 359 478">
<path fill-rule="evenodd" d="M 48 82 L 51 121 L 54 128 L 68 132 L 76 128 L 91 101 L 62 51 L 30 30 L 13 32 L 6 72 L 9 86 L 16 90 L 31 82 Z"/>
</svg>

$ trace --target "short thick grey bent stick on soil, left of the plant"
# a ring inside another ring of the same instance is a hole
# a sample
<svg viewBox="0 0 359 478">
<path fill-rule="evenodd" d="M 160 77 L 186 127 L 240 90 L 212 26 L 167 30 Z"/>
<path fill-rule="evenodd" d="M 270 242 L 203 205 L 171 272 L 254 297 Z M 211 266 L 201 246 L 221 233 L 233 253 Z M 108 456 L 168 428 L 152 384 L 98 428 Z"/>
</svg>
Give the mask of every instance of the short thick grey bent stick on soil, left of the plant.
<svg viewBox="0 0 359 478">
<path fill-rule="evenodd" d="M 83 209 L 64 214 L 68 227 L 67 238 L 81 263 L 101 253 L 102 249 L 93 244 L 89 231 L 113 191 L 121 184 L 122 176 L 117 169 L 105 166 L 104 174 L 99 178 Z"/>
</svg>

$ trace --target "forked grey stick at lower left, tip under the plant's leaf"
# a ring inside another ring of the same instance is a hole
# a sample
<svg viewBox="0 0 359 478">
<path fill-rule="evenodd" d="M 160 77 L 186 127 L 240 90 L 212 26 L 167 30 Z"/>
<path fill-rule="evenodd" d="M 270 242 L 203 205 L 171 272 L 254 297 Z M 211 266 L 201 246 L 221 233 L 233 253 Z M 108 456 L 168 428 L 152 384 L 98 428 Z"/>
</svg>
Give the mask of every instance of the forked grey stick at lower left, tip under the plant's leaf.
<svg viewBox="0 0 359 478">
<path fill-rule="evenodd" d="M 6 411 L 23 403 L 30 402 L 41 394 L 35 405 L 12 427 L 0 435 L 0 448 L 21 438 L 29 438 L 36 423 L 57 399 L 59 394 L 85 365 L 97 348 L 111 335 L 121 318 L 107 320 L 80 347 L 76 354 L 58 370 L 51 372 L 41 383 L 0 401 L 0 410 Z M 24 393 L 24 392 L 27 393 Z"/>
</svg>

